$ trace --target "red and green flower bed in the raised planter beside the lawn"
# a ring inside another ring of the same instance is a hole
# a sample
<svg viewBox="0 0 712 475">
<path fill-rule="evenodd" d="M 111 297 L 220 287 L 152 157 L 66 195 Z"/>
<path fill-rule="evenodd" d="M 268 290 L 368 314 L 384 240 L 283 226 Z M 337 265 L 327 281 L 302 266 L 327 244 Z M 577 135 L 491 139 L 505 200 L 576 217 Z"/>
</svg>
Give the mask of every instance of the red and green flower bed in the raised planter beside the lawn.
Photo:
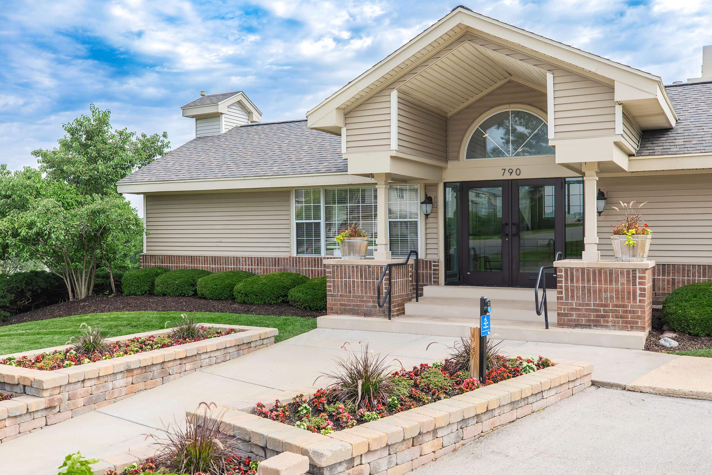
<svg viewBox="0 0 712 475">
<path fill-rule="evenodd" d="M 1 365 L 16 367 L 26 367 L 35 370 L 60 370 L 63 367 L 73 367 L 85 365 L 90 362 L 100 360 L 110 360 L 114 357 L 135 355 L 160 348 L 169 348 L 175 345 L 184 345 L 195 341 L 218 338 L 225 335 L 232 335 L 238 331 L 234 328 L 219 329 L 214 327 L 201 326 L 201 336 L 197 338 L 177 338 L 174 335 L 148 335 L 137 336 L 124 341 L 110 342 L 104 351 L 94 351 L 92 353 L 80 354 L 75 348 L 65 348 L 54 350 L 53 352 L 39 353 L 38 355 L 22 355 L 21 357 L 9 356 L 0 360 Z"/>
</svg>

